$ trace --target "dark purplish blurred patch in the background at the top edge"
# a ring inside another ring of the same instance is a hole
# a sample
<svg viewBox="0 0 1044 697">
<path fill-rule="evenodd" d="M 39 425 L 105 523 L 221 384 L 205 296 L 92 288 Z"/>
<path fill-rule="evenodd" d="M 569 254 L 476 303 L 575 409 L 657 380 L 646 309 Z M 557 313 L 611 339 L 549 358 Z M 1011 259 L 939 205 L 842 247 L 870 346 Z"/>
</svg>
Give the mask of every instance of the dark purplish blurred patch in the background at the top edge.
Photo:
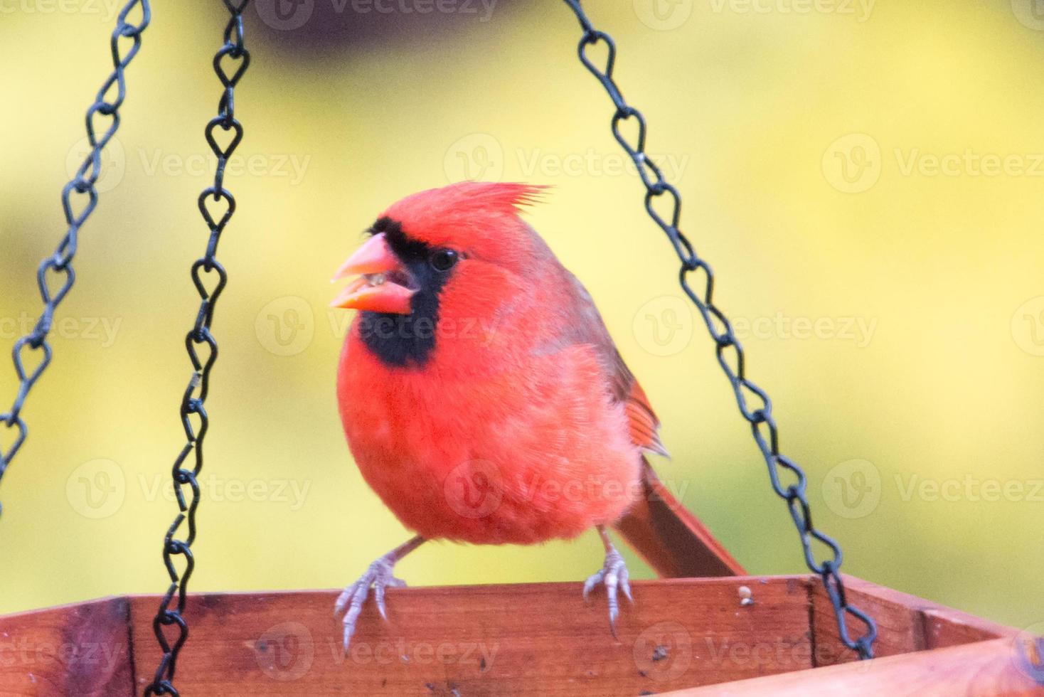
<svg viewBox="0 0 1044 697">
<path fill-rule="evenodd" d="M 513 0 L 254 0 L 251 32 L 308 61 L 395 49 L 512 21 Z"/>
</svg>

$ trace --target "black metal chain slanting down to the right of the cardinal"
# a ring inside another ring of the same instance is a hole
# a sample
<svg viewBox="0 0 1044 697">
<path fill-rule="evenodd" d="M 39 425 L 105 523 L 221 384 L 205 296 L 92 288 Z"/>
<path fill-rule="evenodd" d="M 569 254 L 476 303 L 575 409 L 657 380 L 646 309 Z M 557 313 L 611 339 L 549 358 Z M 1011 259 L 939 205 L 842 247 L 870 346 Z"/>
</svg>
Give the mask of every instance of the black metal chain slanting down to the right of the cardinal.
<svg viewBox="0 0 1044 697">
<path fill-rule="evenodd" d="M 772 401 L 763 389 L 758 387 L 746 377 L 746 365 L 744 360 L 743 346 L 739 343 L 733 332 L 732 322 L 725 313 L 714 305 L 712 299 L 714 291 L 714 272 L 710 265 L 701 259 L 692 247 L 692 243 L 679 230 L 679 220 L 682 212 L 682 197 L 672 185 L 663 177 L 660 168 L 649 160 L 645 152 L 645 117 L 634 106 L 624 100 L 620 88 L 613 78 L 613 66 L 616 62 L 616 43 L 604 31 L 599 31 L 591 24 L 587 14 L 580 7 L 579 0 L 565 0 L 576 19 L 579 20 L 584 35 L 580 38 L 578 53 L 580 63 L 591 71 L 610 98 L 616 105 L 616 113 L 613 115 L 612 129 L 613 137 L 626 153 L 634 161 L 638 168 L 638 173 L 645 185 L 645 210 L 649 217 L 666 233 L 667 238 L 674 247 L 679 259 L 682 261 L 682 269 L 679 274 L 682 289 L 689 296 L 692 303 L 699 310 L 699 314 L 707 325 L 711 338 L 717 347 L 717 359 L 725 370 L 726 377 L 732 384 L 732 389 L 736 394 L 736 403 L 743 418 L 751 425 L 754 433 L 754 440 L 758 443 L 761 454 L 768 465 L 768 477 L 772 480 L 773 489 L 786 501 L 790 516 L 801 535 L 802 547 L 805 552 L 805 563 L 812 573 L 817 574 L 823 579 L 823 585 L 834 606 L 834 615 L 837 619 L 837 629 L 841 642 L 845 646 L 856 651 L 860 658 L 874 657 L 874 640 L 877 638 L 877 625 L 865 612 L 850 605 L 845 596 L 845 582 L 841 579 L 839 570 L 841 566 L 841 549 L 833 539 L 817 530 L 812 525 L 812 513 L 806 497 L 807 479 L 804 471 L 796 462 L 780 454 L 779 434 L 776 419 L 773 417 Z M 588 57 L 588 49 L 596 44 L 603 43 L 609 50 L 609 56 L 604 68 L 596 66 Z M 620 133 L 620 126 L 624 121 L 634 119 L 638 125 L 637 142 L 631 143 Z M 654 201 L 662 196 L 668 196 L 672 210 L 669 217 L 664 218 L 654 208 Z M 689 286 L 689 275 L 702 271 L 705 278 L 703 296 L 696 294 Z M 728 352 L 734 354 L 730 360 Z M 749 399 L 756 400 L 754 408 L 748 403 Z M 796 481 L 786 486 L 780 479 L 781 470 L 791 473 Z M 815 554 L 812 551 L 812 540 L 818 540 L 826 545 L 832 557 L 816 562 Z M 849 634 L 847 616 L 851 615 L 865 624 L 867 630 L 858 639 L 853 640 Z"/>
</svg>

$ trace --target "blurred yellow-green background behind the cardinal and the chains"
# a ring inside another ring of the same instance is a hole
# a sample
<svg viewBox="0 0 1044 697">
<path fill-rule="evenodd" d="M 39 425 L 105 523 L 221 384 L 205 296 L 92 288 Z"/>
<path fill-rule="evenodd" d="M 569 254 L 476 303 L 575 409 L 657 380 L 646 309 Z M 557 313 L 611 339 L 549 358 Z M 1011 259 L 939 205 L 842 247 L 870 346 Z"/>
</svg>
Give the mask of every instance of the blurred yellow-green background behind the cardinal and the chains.
<svg viewBox="0 0 1044 697">
<path fill-rule="evenodd" d="M 589 13 L 618 41 L 617 77 L 844 570 L 1015 626 L 1044 620 L 1044 8 L 651 1 Z M 345 35 L 363 5 L 312 4 L 340 7 L 340 24 L 317 10 L 294 27 L 263 15 L 271 2 L 248 13 L 191 590 L 342 586 L 406 538 L 345 444 L 333 384 L 348 316 L 327 309 L 328 280 L 385 206 L 466 176 L 554 186 L 528 219 L 660 412 L 674 459 L 659 472 L 752 573 L 802 572 L 565 4 L 403 17 L 407 2 Z M 35 266 L 64 234 L 58 192 L 111 68 L 113 5 L 0 0 L 6 346 L 39 313 Z M 71 319 L 0 486 L 0 611 L 166 587 L 224 11 L 155 5 L 58 312 Z M 15 391 L 0 369 L 0 410 Z M 600 563 L 586 535 L 431 546 L 399 572 L 418 585 L 577 580 Z"/>
</svg>

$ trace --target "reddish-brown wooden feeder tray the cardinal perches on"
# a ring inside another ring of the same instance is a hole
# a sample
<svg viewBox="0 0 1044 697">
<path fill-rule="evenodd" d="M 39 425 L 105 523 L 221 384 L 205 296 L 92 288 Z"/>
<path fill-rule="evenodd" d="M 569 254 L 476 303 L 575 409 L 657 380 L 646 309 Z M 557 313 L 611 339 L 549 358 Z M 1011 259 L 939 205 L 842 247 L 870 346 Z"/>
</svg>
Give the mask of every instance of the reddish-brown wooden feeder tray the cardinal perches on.
<svg viewBox="0 0 1044 697">
<path fill-rule="evenodd" d="M 1041 695 L 1044 643 L 848 577 L 878 622 L 854 662 L 812 576 L 636 581 L 614 639 L 579 583 L 388 591 L 341 649 L 334 591 L 190 595 L 183 695 Z M 594 602 L 597 600 L 599 602 Z M 749 602 L 744 602 L 749 601 Z M 159 596 L 0 618 L 0 695 L 134 697 Z"/>
</svg>

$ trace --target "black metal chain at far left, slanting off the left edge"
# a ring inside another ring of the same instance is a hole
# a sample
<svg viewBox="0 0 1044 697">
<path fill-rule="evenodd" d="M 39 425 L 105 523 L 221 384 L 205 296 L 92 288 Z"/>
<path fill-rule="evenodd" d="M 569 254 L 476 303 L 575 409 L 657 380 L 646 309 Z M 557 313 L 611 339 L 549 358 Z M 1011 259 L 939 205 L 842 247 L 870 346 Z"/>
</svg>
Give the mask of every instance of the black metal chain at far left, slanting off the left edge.
<svg viewBox="0 0 1044 697">
<path fill-rule="evenodd" d="M 127 16 L 138 6 L 141 7 L 141 21 L 137 24 L 127 22 Z M 101 151 L 120 127 L 119 110 L 126 97 L 123 71 L 130 65 L 134 56 L 138 55 L 138 51 L 141 49 L 141 34 L 151 18 L 152 11 L 148 0 L 129 0 L 116 17 L 116 28 L 113 29 L 109 41 L 113 54 L 113 72 L 98 90 L 94 103 L 87 110 L 87 139 L 91 145 L 91 151 L 76 173 L 73 174 L 72 179 L 62 189 L 62 209 L 65 212 L 66 224 L 69 226 L 68 232 L 62 238 L 54 254 L 44 259 L 37 270 L 37 285 L 40 287 L 40 296 L 44 302 L 44 311 L 37 319 L 32 331 L 16 341 L 15 347 L 11 350 L 19 388 L 10 410 L 0 414 L 0 426 L 3 427 L 3 431 L 14 430 L 15 440 L 6 452 L 0 442 L 0 479 L 3 478 L 7 465 L 15 459 L 28 435 L 28 428 L 25 420 L 22 419 L 22 407 L 25 405 L 29 390 L 37 384 L 51 362 L 51 344 L 47 342 L 47 336 L 50 334 L 51 325 L 54 321 L 54 311 L 69 294 L 69 290 L 76 280 L 72 262 L 76 256 L 79 229 L 84 226 L 98 205 L 98 191 L 94 185 L 101 176 Z M 130 46 L 126 47 L 126 42 L 121 42 L 121 39 L 129 39 Z M 126 48 L 125 54 L 121 50 L 121 43 Z M 116 94 L 110 95 L 109 93 L 114 87 Z M 110 97 L 115 98 L 110 101 Z M 109 127 L 99 137 L 98 131 L 100 126 L 104 125 L 103 119 L 105 118 L 109 119 Z M 96 119 L 100 123 L 95 123 Z M 86 199 L 82 198 L 85 195 Z M 78 212 L 77 209 L 79 209 Z M 55 285 L 56 281 L 61 281 L 61 283 Z M 40 353 L 35 367 L 29 367 L 26 365 L 26 360 L 33 352 Z"/>
</svg>

